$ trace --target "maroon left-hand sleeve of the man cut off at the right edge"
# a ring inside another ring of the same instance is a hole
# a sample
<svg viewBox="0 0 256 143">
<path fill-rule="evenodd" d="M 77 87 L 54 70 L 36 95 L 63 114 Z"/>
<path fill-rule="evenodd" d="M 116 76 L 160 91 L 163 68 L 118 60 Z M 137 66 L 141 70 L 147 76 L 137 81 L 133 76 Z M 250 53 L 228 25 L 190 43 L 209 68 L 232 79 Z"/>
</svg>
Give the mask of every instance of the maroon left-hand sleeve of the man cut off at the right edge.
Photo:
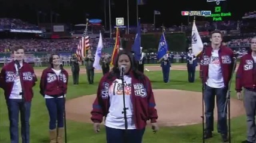
<svg viewBox="0 0 256 143">
<path fill-rule="evenodd" d="M 243 57 L 240 59 L 239 67 L 236 71 L 236 92 L 242 91 L 242 75 L 243 75 Z"/>
</svg>

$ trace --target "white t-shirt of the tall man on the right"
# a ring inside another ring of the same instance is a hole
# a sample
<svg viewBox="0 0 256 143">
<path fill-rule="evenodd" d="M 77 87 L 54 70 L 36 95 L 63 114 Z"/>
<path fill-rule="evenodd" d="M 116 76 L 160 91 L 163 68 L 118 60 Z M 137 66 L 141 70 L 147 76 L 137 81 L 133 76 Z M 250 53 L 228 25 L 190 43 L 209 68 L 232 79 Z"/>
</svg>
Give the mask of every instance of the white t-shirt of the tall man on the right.
<svg viewBox="0 0 256 143">
<path fill-rule="evenodd" d="M 221 61 L 219 61 L 219 49 L 213 49 L 210 57 L 208 79 L 206 85 L 211 88 L 224 88 L 224 79 L 221 71 Z"/>
</svg>

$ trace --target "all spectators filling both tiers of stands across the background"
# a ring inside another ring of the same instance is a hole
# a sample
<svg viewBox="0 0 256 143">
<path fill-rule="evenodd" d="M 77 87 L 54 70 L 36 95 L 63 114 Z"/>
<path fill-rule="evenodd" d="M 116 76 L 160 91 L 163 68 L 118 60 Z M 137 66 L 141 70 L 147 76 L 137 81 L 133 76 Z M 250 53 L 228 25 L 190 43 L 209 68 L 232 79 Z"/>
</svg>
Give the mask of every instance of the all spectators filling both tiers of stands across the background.
<svg viewBox="0 0 256 143">
<path fill-rule="evenodd" d="M 256 18 L 256 11 L 245 13 L 243 18 Z M 166 32 L 177 32 L 177 31 L 191 31 L 192 30 L 192 20 L 189 25 L 179 25 L 179 26 L 172 26 L 166 28 Z M 197 29 L 199 32 L 208 32 L 215 29 L 225 30 L 227 31 L 226 34 L 229 34 L 229 30 L 239 30 L 241 27 L 248 26 L 248 23 L 245 21 L 196 21 Z M 34 24 L 29 24 L 25 21 L 16 18 L 0 18 L 0 29 L 1 27 L 10 28 L 10 29 L 38 29 L 37 26 Z M 132 26 L 131 26 L 132 27 Z M 162 31 L 162 28 L 155 28 L 152 26 L 141 26 L 141 32 L 156 32 Z M 99 30 L 97 29 L 93 30 Z M 136 27 L 131 28 L 129 31 L 130 33 L 137 33 Z M 121 29 L 122 31 L 122 29 Z M 125 32 L 125 30 L 123 30 Z M 115 33 L 115 29 L 113 29 L 113 33 Z M 236 35 L 233 33 L 233 35 Z M 208 35 L 207 35 L 208 36 Z M 202 41 L 207 39 L 209 41 L 209 37 L 201 35 Z M 240 48 L 240 47 L 248 47 L 249 41 L 252 35 L 240 35 L 237 34 L 238 37 L 227 39 L 227 45 L 231 48 Z M 254 35 L 255 36 L 255 33 Z M 248 38 L 249 37 L 249 38 Z M 189 38 L 188 36 L 188 39 Z M 20 44 L 25 46 L 27 52 L 41 52 L 41 51 L 76 51 L 77 44 L 79 43 L 79 39 L 0 39 L 0 52 L 8 52 L 10 48 L 14 45 Z M 92 38 L 90 39 L 90 45 L 93 50 L 97 49 L 98 39 Z M 104 48 L 113 48 L 115 46 L 115 39 L 110 38 L 103 38 Z"/>
</svg>

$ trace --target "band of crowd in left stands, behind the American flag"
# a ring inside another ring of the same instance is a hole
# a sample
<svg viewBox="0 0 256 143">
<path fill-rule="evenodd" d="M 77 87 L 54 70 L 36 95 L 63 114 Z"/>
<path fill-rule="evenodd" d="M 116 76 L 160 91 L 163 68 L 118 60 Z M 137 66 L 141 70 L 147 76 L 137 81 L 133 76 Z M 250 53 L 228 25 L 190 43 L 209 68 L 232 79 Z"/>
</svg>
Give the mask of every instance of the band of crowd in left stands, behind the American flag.
<svg viewBox="0 0 256 143">
<path fill-rule="evenodd" d="M 8 52 L 14 45 L 23 45 L 27 52 L 76 51 L 79 39 L 0 39 L 0 52 Z M 97 49 L 98 39 L 90 39 L 92 49 Z M 104 48 L 113 48 L 115 40 L 103 39 Z"/>
</svg>

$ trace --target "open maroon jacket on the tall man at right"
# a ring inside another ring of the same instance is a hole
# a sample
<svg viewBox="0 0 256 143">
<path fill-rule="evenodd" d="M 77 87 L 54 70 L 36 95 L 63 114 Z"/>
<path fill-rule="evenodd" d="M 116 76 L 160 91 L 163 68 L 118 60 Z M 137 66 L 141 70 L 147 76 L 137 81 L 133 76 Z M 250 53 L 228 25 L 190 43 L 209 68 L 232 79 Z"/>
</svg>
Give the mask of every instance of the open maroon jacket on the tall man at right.
<svg viewBox="0 0 256 143">
<path fill-rule="evenodd" d="M 203 52 L 200 54 L 201 60 L 201 70 L 203 73 L 203 83 L 207 81 L 208 78 L 208 70 L 209 70 L 209 63 L 210 63 L 210 57 L 212 56 L 212 46 L 207 46 L 204 49 L 204 58 L 203 58 Z M 234 53 L 233 51 L 228 48 L 227 46 L 221 45 L 219 49 L 219 61 L 221 63 L 221 70 L 222 70 L 222 76 L 224 80 L 224 85 L 228 86 L 228 82 L 231 79 L 231 74 L 234 66 Z"/>
</svg>

